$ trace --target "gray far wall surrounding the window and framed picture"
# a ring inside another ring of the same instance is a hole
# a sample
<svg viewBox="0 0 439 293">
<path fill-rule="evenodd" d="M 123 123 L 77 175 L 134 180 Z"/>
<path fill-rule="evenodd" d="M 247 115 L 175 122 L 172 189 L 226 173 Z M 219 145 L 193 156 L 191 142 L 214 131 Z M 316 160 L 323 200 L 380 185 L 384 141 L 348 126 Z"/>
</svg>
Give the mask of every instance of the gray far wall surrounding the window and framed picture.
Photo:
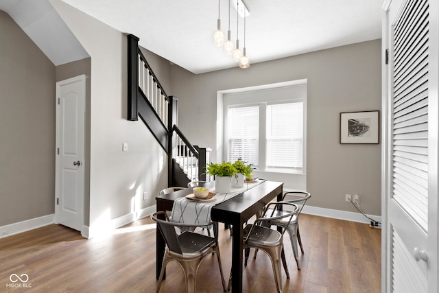
<svg viewBox="0 0 439 293">
<path fill-rule="evenodd" d="M 345 194 L 356 193 L 366 213 L 381 215 L 381 146 L 339 143 L 341 112 L 381 110 L 380 62 L 381 40 L 372 40 L 249 69 L 194 75 L 174 65 L 172 90 L 179 97 L 179 127 L 194 144 L 216 152 L 217 91 L 306 78 L 309 204 L 356 211 L 344 199 Z M 192 117 L 198 121 L 194 123 Z M 294 187 L 294 183 L 285 185 Z"/>
</svg>

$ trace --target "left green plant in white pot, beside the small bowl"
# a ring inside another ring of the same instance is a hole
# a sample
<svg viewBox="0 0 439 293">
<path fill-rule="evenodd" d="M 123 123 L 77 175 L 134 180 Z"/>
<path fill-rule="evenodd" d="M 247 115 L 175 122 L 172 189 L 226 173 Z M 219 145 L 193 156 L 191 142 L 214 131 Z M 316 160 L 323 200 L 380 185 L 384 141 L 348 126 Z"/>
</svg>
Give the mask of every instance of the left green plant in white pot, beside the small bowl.
<svg viewBox="0 0 439 293">
<path fill-rule="evenodd" d="M 211 163 L 206 165 L 206 174 L 215 176 L 215 191 L 227 194 L 232 190 L 231 178 L 237 174 L 237 169 L 232 163 Z"/>
</svg>

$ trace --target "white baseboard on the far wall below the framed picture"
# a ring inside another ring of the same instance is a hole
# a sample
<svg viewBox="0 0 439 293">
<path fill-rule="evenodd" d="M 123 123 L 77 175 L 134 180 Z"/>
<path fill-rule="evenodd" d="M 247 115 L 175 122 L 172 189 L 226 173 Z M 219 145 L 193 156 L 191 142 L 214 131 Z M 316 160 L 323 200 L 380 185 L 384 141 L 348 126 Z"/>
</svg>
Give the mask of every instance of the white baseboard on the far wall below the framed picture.
<svg viewBox="0 0 439 293">
<path fill-rule="evenodd" d="M 359 222 L 370 224 L 370 220 L 361 213 L 353 213 L 351 211 L 340 211 L 337 209 L 324 209 L 322 207 L 311 207 L 305 205 L 302 209 L 302 213 L 309 215 L 320 215 L 321 217 L 333 218 L 339 220 L 346 220 L 351 222 Z M 381 215 L 367 215 L 369 218 L 377 222 L 381 222 Z"/>
</svg>

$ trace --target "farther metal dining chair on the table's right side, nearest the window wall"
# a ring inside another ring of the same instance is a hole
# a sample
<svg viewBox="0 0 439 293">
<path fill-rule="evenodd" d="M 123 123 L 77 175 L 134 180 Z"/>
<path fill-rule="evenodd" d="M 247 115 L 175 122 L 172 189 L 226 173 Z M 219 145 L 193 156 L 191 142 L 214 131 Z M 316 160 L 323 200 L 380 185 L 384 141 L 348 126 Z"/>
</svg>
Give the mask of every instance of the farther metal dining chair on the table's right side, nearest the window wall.
<svg viewBox="0 0 439 293">
<path fill-rule="evenodd" d="M 294 259 L 296 259 L 298 270 L 300 270 L 300 261 L 298 258 L 297 244 L 299 244 L 302 254 L 304 253 L 303 246 L 302 246 L 302 239 L 300 239 L 299 222 L 298 221 L 299 221 L 300 212 L 302 211 L 303 207 L 305 206 L 305 203 L 307 202 L 307 200 L 309 200 L 309 198 L 311 198 L 311 194 L 309 192 L 306 192 L 306 191 L 285 192 L 285 194 L 283 194 L 282 201 L 297 204 L 299 207 L 299 211 L 296 215 L 294 215 L 294 217 L 292 218 L 291 222 L 289 222 L 289 224 L 286 224 L 285 221 L 282 221 L 282 220 L 272 221 L 270 223 L 272 225 L 280 226 L 288 231 L 289 239 L 291 241 L 291 245 L 293 248 Z M 272 212 L 273 211 L 270 209 L 265 209 L 265 214 L 272 215 Z M 275 213 L 275 215 L 281 215 L 282 213 L 285 213 L 285 211 L 277 211 Z M 257 250 L 254 251 L 253 258 L 256 258 L 256 255 L 257 255 Z M 285 267 L 285 263 L 284 263 L 284 267 Z"/>
</svg>

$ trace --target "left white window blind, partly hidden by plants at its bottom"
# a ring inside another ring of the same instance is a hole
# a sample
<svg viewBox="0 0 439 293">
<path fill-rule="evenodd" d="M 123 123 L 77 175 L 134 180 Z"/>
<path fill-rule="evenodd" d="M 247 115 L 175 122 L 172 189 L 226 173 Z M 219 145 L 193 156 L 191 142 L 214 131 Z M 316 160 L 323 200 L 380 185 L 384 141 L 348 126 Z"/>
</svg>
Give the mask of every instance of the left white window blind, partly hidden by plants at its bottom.
<svg viewBox="0 0 439 293">
<path fill-rule="evenodd" d="M 229 161 L 259 166 L 259 106 L 228 109 Z"/>
</svg>

